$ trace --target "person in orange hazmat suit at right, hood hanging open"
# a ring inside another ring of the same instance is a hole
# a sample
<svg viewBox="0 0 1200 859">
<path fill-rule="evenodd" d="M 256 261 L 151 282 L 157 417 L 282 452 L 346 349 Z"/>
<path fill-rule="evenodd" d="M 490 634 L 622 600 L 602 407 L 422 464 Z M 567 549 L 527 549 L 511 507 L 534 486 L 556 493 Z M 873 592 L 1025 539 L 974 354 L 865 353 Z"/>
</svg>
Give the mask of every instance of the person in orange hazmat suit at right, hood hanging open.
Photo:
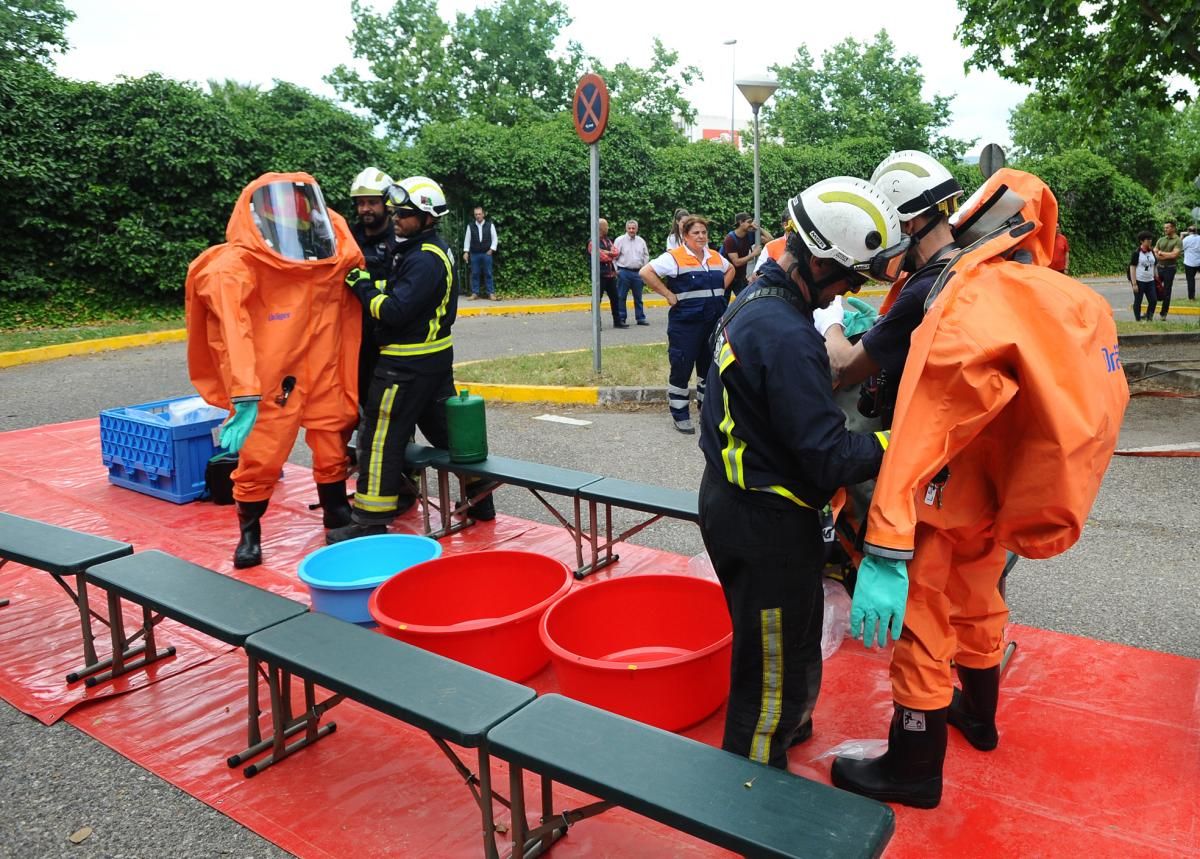
<svg viewBox="0 0 1200 859">
<path fill-rule="evenodd" d="M 895 639 L 888 749 L 836 758 L 845 791 L 932 809 L 947 725 L 996 747 L 1007 552 L 1074 545 L 1116 449 L 1129 388 L 1112 310 L 1049 268 L 1057 221 L 1045 182 L 1007 168 L 952 218 L 964 250 L 912 335 L 851 607 L 856 638 Z"/>
</svg>

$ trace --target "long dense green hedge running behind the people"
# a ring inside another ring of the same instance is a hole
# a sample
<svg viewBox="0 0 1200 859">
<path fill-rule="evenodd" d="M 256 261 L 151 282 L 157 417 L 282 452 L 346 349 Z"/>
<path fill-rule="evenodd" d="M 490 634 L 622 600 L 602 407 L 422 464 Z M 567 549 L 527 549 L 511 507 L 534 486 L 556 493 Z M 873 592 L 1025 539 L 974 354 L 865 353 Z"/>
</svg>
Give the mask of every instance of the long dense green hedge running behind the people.
<svg viewBox="0 0 1200 859">
<path fill-rule="evenodd" d="M 23 62 L 0 65 L 0 324 L 78 323 L 89 316 L 178 311 L 188 263 L 222 241 L 240 190 L 268 170 L 306 170 L 353 220 L 353 176 L 367 164 L 446 190 L 444 233 L 457 248 L 480 204 L 500 230 L 497 282 L 510 295 L 580 294 L 588 287 L 588 148 L 566 112 L 499 127 L 463 119 L 426 126 L 390 149 L 372 125 L 290 84 L 214 92 L 148 76 L 112 85 L 71 82 Z M 762 220 L 832 175 L 869 176 L 890 150 L 851 138 L 832 146 L 761 146 Z M 613 235 L 641 223 L 652 253 L 672 211 L 713 220 L 719 241 L 754 209 L 754 157 L 707 142 L 652 146 L 614 112 L 600 142 L 600 211 Z M 1133 236 L 1156 228 L 1150 194 L 1103 158 L 1066 152 L 1027 164 L 1062 205 L 1072 269 L 1118 272 Z M 978 172 L 953 167 L 967 192 Z"/>
</svg>

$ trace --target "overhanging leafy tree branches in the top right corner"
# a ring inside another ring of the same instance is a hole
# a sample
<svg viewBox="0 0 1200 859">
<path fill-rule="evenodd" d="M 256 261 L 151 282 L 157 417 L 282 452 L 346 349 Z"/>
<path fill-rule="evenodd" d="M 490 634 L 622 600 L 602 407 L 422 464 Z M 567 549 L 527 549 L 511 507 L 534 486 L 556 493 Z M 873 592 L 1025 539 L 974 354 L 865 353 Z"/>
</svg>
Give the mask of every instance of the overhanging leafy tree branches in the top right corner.
<svg viewBox="0 0 1200 859">
<path fill-rule="evenodd" d="M 965 13 L 958 36 L 972 48 L 968 68 L 1064 91 L 1097 114 L 1126 92 L 1145 88 L 1154 107 L 1187 102 L 1170 89 L 1180 76 L 1200 80 L 1196 6 L 1168 0 L 956 0 Z"/>
</svg>

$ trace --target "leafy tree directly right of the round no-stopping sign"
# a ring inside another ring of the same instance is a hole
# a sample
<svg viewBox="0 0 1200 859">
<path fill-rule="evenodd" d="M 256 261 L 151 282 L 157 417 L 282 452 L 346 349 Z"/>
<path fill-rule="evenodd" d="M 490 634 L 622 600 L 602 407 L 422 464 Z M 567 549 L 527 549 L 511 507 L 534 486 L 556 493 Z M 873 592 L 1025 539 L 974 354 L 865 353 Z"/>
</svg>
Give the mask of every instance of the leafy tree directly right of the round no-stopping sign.
<svg viewBox="0 0 1200 859">
<path fill-rule="evenodd" d="M 608 85 L 611 110 L 634 121 L 644 139 L 654 146 L 683 142 L 683 126 L 696 120 L 696 109 L 683 90 L 701 77 L 696 66 L 678 68 L 679 52 L 668 50 L 654 38 L 654 59 L 649 68 L 618 62 L 606 68 L 593 60 L 596 72 Z"/>
</svg>

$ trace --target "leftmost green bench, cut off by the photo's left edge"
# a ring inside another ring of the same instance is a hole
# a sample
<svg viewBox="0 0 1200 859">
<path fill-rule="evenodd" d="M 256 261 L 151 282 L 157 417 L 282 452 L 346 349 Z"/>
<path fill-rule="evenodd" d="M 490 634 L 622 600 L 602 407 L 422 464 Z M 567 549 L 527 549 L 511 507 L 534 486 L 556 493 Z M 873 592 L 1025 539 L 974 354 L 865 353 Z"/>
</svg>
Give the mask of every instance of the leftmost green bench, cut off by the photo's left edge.
<svg viewBox="0 0 1200 859">
<path fill-rule="evenodd" d="M 112 660 L 96 659 L 96 639 L 91 629 L 91 619 L 108 624 L 104 618 L 91 609 L 88 603 L 88 583 L 84 570 L 92 564 L 127 555 L 133 546 L 127 542 L 94 536 L 70 528 L 49 525 L 22 516 L 0 513 L 0 567 L 10 560 L 43 570 L 67 593 L 79 611 L 79 629 L 83 635 L 83 661 L 78 671 L 67 674 L 67 683 L 74 683 L 83 677 L 107 668 Z M 67 583 L 74 578 L 74 589 Z M 5 600 L 0 605 L 7 605 Z M 125 654 L 132 656 L 134 653 Z"/>
</svg>

